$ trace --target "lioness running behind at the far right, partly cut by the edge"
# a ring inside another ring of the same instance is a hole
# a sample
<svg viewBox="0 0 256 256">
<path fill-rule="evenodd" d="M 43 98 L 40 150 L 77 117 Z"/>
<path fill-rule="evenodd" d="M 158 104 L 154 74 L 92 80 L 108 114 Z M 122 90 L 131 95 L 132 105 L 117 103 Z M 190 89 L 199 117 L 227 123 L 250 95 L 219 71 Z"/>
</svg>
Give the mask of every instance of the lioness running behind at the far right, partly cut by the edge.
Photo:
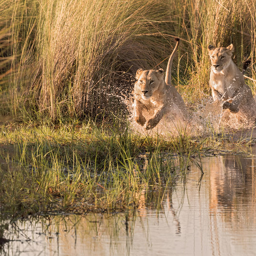
<svg viewBox="0 0 256 256">
<path fill-rule="evenodd" d="M 232 44 L 227 48 L 208 46 L 211 61 L 209 83 L 212 97 L 214 102 L 222 104 L 222 109 L 228 109 L 231 113 L 241 112 L 246 121 L 254 123 L 256 104 L 243 76 L 250 61 L 245 62 L 241 72 L 231 59 L 233 51 Z"/>
</svg>

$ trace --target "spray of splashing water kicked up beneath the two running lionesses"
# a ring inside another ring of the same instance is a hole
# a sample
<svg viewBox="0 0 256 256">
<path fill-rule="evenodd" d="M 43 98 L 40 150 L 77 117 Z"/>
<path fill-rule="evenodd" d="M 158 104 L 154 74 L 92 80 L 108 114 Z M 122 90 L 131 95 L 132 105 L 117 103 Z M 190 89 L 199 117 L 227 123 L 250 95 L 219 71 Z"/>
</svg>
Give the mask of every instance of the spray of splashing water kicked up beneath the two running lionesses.
<svg viewBox="0 0 256 256">
<path fill-rule="evenodd" d="M 247 121 L 240 111 L 236 114 L 231 113 L 228 109 L 223 110 L 220 102 L 214 102 L 212 98 L 205 98 L 196 106 L 196 109 L 188 109 L 189 118 L 186 122 L 167 113 L 156 127 L 146 131 L 134 120 L 133 101 L 127 98 L 125 104 L 130 112 L 132 130 L 142 135 L 207 136 L 212 133 L 220 133 L 223 129 L 229 133 L 239 129 L 252 129 L 255 125 Z M 146 119 L 150 117 L 150 114 L 147 111 L 143 112 Z M 179 113 L 176 116 L 179 117 Z"/>
</svg>

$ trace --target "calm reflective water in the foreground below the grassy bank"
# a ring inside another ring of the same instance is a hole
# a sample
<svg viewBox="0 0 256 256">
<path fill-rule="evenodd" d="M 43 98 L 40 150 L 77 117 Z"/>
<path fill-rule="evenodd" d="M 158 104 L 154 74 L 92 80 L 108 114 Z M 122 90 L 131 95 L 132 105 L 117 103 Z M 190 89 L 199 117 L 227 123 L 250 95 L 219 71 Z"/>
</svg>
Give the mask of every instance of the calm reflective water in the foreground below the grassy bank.
<svg viewBox="0 0 256 256">
<path fill-rule="evenodd" d="M 255 255 L 256 148 L 202 159 L 136 212 L 9 224 L 3 255 Z M 162 204 L 156 206 L 156 199 Z M 0 253 L 1 254 L 1 253 Z M 1 254 L 1 255 L 2 255 Z"/>
</svg>

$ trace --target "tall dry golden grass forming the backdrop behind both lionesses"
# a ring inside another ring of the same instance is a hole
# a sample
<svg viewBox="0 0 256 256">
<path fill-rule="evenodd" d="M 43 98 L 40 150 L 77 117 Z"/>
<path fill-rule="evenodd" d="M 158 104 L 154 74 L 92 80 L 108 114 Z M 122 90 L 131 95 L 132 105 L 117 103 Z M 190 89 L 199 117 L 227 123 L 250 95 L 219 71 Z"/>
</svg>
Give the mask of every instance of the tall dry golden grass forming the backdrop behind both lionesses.
<svg viewBox="0 0 256 256">
<path fill-rule="evenodd" d="M 209 95 L 208 44 L 232 42 L 238 66 L 250 57 L 256 76 L 253 0 L 9 2 L 15 116 L 56 121 L 116 111 L 138 68 L 166 67 L 173 36 L 182 39 L 174 84 L 189 104 Z"/>
</svg>

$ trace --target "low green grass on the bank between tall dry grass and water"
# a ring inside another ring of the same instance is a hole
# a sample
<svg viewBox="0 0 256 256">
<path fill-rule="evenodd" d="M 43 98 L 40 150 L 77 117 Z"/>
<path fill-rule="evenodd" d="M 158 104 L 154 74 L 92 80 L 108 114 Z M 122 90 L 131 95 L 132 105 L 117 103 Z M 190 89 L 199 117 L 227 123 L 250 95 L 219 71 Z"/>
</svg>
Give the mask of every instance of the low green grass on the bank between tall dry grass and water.
<svg viewBox="0 0 256 256">
<path fill-rule="evenodd" d="M 191 161 L 203 173 L 201 157 L 237 152 L 244 144 L 236 141 L 236 148 L 227 150 L 232 142 L 224 137 L 195 139 L 184 133 L 166 139 L 141 136 L 128 124 L 120 127 L 90 120 L 59 127 L 3 125 L 2 214 L 19 218 L 134 209 L 152 190 L 165 191 L 185 179 Z"/>
</svg>

